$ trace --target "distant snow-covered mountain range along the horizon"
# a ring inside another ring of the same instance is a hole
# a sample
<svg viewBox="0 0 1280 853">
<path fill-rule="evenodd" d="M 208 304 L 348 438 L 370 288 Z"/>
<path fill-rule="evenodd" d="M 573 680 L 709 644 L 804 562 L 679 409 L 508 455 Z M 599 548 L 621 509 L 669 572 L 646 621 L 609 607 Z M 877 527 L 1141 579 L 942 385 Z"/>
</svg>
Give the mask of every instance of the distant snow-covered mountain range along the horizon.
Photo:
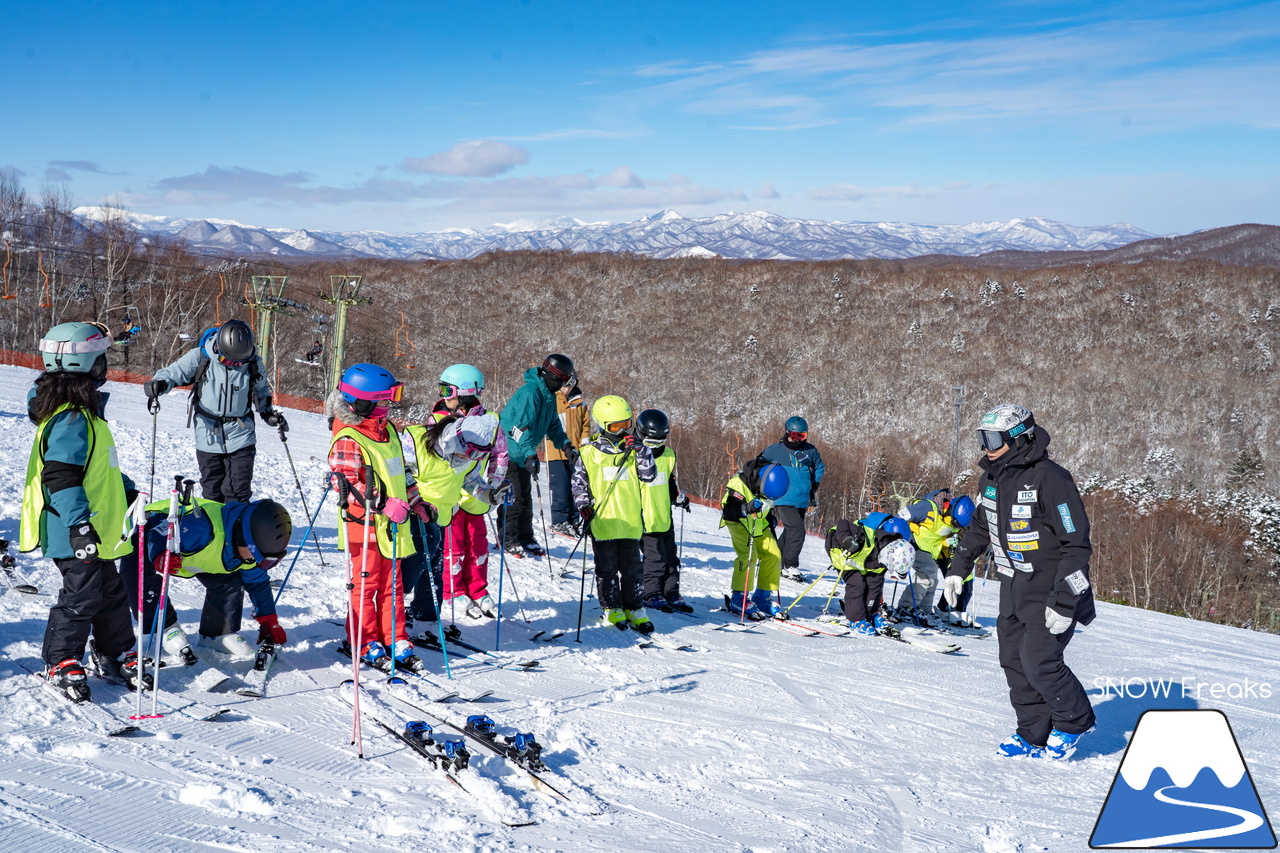
<svg viewBox="0 0 1280 853">
<path fill-rule="evenodd" d="M 79 207 L 86 219 L 100 207 Z M 143 232 L 184 240 L 193 251 L 282 257 L 360 256 L 407 260 L 475 257 L 490 251 L 561 250 L 636 252 L 652 257 L 760 260 L 904 259 L 995 251 L 1116 248 L 1155 234 L 1129 224 L 1069 225 L 1041 216 L 966 225 L 787 219 L 771 213 L 726 213 L 686 219 L 663 210 L 635 222 L 518 220 L 489 228 L 424 233 L 291 231 L 219 219 L 129 214 Z"/>
</svg>

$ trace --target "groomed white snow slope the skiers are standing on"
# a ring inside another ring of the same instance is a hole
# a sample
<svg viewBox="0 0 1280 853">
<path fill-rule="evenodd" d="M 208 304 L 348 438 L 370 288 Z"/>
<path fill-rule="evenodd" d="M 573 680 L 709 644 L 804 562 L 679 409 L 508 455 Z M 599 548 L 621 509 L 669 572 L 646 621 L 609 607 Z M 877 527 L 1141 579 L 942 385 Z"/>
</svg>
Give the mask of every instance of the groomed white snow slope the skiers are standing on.
<svg viewBox="0 0 1280 853">
<path fill-rule="evenodd" d="M 33 435 L 26 393 L 35 371 L 0 368 L 0 537 L 17 539 L 22 478 Z M 141 389 L 109 384 L 108 415 L 122 467 L 146 484 L 151 420 Z M 173 474 L 196 475 L 186 396 L 164 398 L 156 446 L 157 491 Z M 328 432 L 319 415 L 289 412 L 289 447 L 315 508 L 324 485 Z M 257 497 L 289 507 L 297 543 L 305 521 L 274 430 L 260 428 Z M 548 489 L 543 487 L 543 494 Z M 1106 524 L 1106 519 L 1094 519 Z M 677 524 L 680 523 L 677 517 Z M 535 517 L 535 525 L 538 525 Z M 56 590 L 52 564 L 19 556 L 44 594 L 0 594 L 0 848 L 24 853 L 166 850 L 1084 850 L 1119 766 L 1126 734 L 1146 708 L 1220 708 L 1239 739 L 1263 806 L 1280 811 L 1280 637 L 1100 605 L 1069 662 L 1094 679 L 1130 681 L 1128 695 L 1093 690 L 1100 730 L 1076 760 L 1010 761 L 995 745 L 1014 729 L 996 639 L 959 638 L 943 656 L 882 638 L 794 637 L 769 628 L 710 630 L 728 587 L 732 551 L 714 511 L 685 519 L 684 592 L 700 619 L 654 613 L 658 630 L 695 652 L 641 649 L 628 634 L 594 624 L 588 579 L 581 644 L 572 634 L 531 643 L 538 630 L 572 629 L 579 579 L 558 578 L 572 542 L 550 540 L 547 562 L 513 561 L 525 622 L 503 588 L 502 647 L 544 666 L 513 672 L 454 660 L 467 688 L 492 689 L 479 704 L 431 706 L 461 722 L 492 716 L 499 730 L 531 731 L 544 760 L 577 788 L 613 806 L 588 815 L 586 798 L 563 804 L 534 793 L 499 760 L 472 768 L 494 780 L 467 795 L 371 721 L 365 760 L 351 742 L 351 708 L 337 685 L 349 663 L 334 653 L 346 580 L 334 551 L 333 500 L 319 525 L 328 569 L 303 551 L 282 598 L 289 633 L 269 695 L 200 694 L 230 708 L 215 722 L 180 715 L 146 721 L 137 738 L 102 739 L 77 727 L 72 710 L 18 663 L 40 666 L 45 617 Z M 17 546 L 14 546 L 17 549 Z M 581 571 L 581 552 L 572 564 Z M 810 539 L 803 569 L 826 566 Z M 490 578 L 497 594 L 498 557 Z M 980 581 L 979 581 L 980 584 Z M 801 590 L 783 581 L 785 603 Z M 192 635 L 201 588 L 177 581 L 174 599 Z M 829 581 L 819 584 L 823 596 Z M 995 583 L 979 587 L 991 625 Z M 814 615 L 814 606 L 795 612 Z M 246 615 L 244 634 L 253 639 Z M 492 622 L 458 612 L 466 639 L 493 647 Z M 424 652 L 443 680 L 439 656 Z M 180 676 L 161 675 L 173 684 Z M 1171 698 L 1135 695 L 1138 683 L 1174 680 Z M 1181 684 L 1188 695 L 1183 695 Z M 1211 698 L 1211 685 L 1252 695 Z M 1270 698 L 1258 692 L 1270 684 Z M 1197 685 L 1201 698 L 1196 698 Z M 1234 685 L 1234 686 L 1233 686 Z M 93 680 L 95 697 L 128 713 L 128 698 Z M 193 694 L 195 695 L 195 694 Z M 113 701 L 114 697 L 114 701 Z M 511 829 L 524 809 L 536 826 Z"/>
</svg>

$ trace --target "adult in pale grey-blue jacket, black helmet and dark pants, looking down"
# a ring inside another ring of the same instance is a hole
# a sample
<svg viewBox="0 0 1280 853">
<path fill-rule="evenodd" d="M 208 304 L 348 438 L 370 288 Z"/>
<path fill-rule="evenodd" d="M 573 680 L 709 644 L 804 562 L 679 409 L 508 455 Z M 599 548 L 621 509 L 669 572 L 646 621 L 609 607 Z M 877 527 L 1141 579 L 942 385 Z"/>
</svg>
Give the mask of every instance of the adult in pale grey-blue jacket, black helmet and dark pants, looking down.
<svg viewBox="0 0 1280 853">
<path fill-rule="evenodd" d="M 227 320 L 200 338 L 200 345 L 142 384 L 148 400 L 177 386 L 191 386 L 187 425 L 196 426 L 196 462 L 206 501 L 248 503 L 253 494 L 257 434 L 253 407 L 262 423 L 283 433 L 284 415 L 271 406 L 271 386 L 262 375 L 253 330 L 243 320 Z"/>
</svg>

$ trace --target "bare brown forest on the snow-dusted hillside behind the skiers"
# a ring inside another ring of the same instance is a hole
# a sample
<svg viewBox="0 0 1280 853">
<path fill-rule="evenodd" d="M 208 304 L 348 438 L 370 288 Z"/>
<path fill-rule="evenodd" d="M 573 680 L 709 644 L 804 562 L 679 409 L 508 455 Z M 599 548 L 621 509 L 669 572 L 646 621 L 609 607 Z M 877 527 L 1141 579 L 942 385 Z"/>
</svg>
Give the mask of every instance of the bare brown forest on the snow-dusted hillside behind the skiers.
<svg viewBox="0 0 1280 853">
<path fill-rule="evenodd" d="M 1103 596 L 1280 628 L 1276 268 L 556 252 L 284 266 L 143 241 L 123 214 L 86 228 L 67 206 L 0 186 L 13 297 L 0 301 L 3 348 L 29 351 L 68 319 L 137 316 L 115 366 L 148 373 L 214 321 L 250 319 L 253 275 L 287 275 L 270 369 L 279 391 L 319 397 L 333 378 L 294 359 L 316 338 L 328 353 L 330 277 L 361 275 L 346 362 L 390 368 L 407 414 L 434 400 L 449 364 L 480 368 L 497 406 L 559 351 L 589 400 L 667 411 L 684 485 L 709 498 L 800 414 L 827 462 L 814 529 L 896 510 L 920 488 L 972 485 L 978 418 L 1016 401 L 1088 493 Z"/>
</svg>

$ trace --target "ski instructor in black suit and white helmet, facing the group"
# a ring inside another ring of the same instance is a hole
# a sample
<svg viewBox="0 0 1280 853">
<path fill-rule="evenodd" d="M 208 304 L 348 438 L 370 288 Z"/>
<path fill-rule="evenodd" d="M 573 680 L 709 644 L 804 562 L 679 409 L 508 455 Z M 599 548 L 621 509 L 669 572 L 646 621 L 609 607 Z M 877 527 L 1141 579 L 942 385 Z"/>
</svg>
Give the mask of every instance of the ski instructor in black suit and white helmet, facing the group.
<svg viewBox="0 0 1280 853">
<path fill-rule="evenodd" d="M 1075 480 L 1048 457 L 1048 433 L 1028 409 L 996 406 L 978 437 L 986 452 L 978 514 L 951 560 L 943 594 L 955 606 L 974 560 L 991 548 L 1000 575 L 1000 665 L 1018 715 L 1018 731 L 1000 753 L 1068 758 L 1094 721 L 1084 686 L 1064 661 L 1075 625 L 1096 615 L 1089 519 Z"/>
</svg>

